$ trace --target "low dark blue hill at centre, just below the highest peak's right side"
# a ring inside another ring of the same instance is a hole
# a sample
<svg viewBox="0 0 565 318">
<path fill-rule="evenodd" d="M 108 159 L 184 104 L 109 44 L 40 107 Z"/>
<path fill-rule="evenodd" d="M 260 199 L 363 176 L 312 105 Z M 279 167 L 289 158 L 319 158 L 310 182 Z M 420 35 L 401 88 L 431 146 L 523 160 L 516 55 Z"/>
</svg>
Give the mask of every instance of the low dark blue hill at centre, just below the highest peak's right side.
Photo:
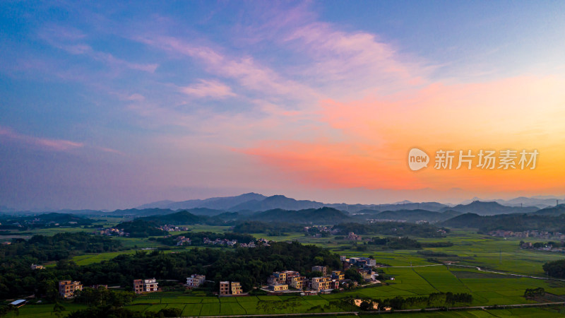
<svg viewBox="0 0 565 318">
<path fill-rule="evenodd" d="M 347 214 L 335 208 L 309 208 L 299 211 L 287 211 L 280 208 L 255 213 L 249 220 L 263 222 L 336 224 L 351 220 Z"/>
</svg>

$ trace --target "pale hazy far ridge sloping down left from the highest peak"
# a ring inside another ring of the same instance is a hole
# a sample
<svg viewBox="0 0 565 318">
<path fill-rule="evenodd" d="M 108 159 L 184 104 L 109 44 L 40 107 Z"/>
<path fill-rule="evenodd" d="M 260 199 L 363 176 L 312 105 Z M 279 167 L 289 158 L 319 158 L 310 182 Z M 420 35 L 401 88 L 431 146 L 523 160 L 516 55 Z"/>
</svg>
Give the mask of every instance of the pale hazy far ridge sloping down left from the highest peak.
<svg viewBox="0 0 565 318">
<path fill-rule="evenodd" d="M 228 210 L 232 206 L 237 206 L 246 201 L 257 200 L 261 201 L 266 196 L 263 194 L 246 193 L 239 196 L 223 196 L 209 199 L 196 199 L 187 201 L 157 201 L 150 204 L 143 204 L 138 208 L 169 208 L 171 210 L 189 209 L 189 208 L 211 208 L 214 210 Z"/>
</svg>

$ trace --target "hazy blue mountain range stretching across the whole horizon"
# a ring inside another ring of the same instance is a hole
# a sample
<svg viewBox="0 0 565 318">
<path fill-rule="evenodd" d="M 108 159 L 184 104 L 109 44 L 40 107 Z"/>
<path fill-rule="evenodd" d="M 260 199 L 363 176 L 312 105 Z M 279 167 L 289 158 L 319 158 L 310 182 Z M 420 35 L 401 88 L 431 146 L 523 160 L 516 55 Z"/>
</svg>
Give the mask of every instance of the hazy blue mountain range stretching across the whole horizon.
<svg viewBox="0 0 565 318">
<path fill-rule="evenodd" d="M 540 216 L 559 216 L 565 213 L 563 205 L 555 207 L 543 206 L 555 201 L 555 198 L 520 197 L 504 201 L 470 201 L 468 204 L 448 206 L 438 202 L 410 202 L 400 201 L 396 204 L 325 204 L 319 201 L 296 200 L 283 195 L 264 196 L 262 194 L 247 193 L 239 196 L 214 197 L 209 199 L 196 199 L 187 201 L 157 201 L 143 204 L 137 208 L 116 211 L 96 210 L 61 210 L 46 211 L 58 213 L 72 213 L 80 216 L 117 216 L 117 217 L 145 217 L 165 216 L 178 211 L 186 211 L 194 216 L 214 217 L 232 220 L 277 220 L 284 216 L 288 220 L 307 222 L 309 216 L 318 218 L 327 213 L 327 218 L 337 220 L 405 220 L 417 222 L 443 222 L 465 213 L 477 216 L 494 216 L 510 213 L 529 213 Z M 532 206 L 528 206 L 533 204 Z M 543 208 L 540 209 L 539 206 Z M 314 212 L 313 212 L 314 211 Z M 336 212 L 337 211 L 337 212 Z M 339 213 L 338 213 L 339 212 Z M 4 213 L 37 214 L 37 212 L 4 211 Z M 286 221 L 286 220 L 285 220 Z"/>
</svg>

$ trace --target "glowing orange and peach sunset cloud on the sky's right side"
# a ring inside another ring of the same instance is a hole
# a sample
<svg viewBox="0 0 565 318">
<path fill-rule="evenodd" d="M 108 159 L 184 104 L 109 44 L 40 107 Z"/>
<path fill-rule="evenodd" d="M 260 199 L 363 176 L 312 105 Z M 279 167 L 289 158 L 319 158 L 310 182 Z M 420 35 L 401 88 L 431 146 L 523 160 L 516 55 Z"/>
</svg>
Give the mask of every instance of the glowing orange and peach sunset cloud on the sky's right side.
<svg viewBox="0 0 565 318">
<path fill-rule="evenodd" d="M 562 191 L 562 87 L 564 78 L 523 76 L 489 83 L 434 83 L 408 94 L 350 102 L 323 100 L 321 121 L 340 131 L 339 138 L 263 141 L 244 152 L 322 187 Z M 540 157 L 535 170 L 435 170 L 432 162 L 412 172 L 406 164 L 412 147 L 432 158 L 441 148 L 472 149 L 475 154 L 480 149 L 535 148 Z"/>
</svg>

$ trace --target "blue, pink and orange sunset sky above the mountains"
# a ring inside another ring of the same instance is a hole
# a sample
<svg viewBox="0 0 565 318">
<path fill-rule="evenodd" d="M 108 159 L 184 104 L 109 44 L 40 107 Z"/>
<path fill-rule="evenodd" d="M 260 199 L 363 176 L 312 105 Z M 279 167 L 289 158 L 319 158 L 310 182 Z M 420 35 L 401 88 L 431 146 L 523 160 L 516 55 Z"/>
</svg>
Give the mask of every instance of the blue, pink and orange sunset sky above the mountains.
<svg viewBox="0 0 565 318">
<path fill-rule="evenodd" d="M 562 197 L 564 39 L 563 1 L 1 1 L 0 207 Z"/>
</svg>

